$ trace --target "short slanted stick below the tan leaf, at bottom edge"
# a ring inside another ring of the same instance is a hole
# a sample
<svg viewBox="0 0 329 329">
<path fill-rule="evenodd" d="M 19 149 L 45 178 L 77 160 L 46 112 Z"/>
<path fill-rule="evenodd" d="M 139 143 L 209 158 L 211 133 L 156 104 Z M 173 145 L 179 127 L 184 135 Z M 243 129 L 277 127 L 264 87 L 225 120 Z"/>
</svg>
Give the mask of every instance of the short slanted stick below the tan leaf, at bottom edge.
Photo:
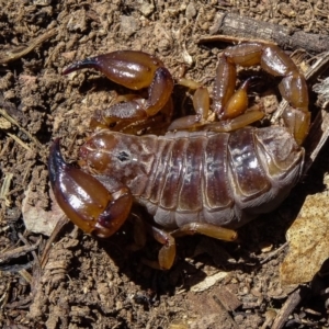
<svg viewBox="0 0 329 329">
<path fill-rule="evenodd" d="M 288 319 L 288 316 L 293 313 L 295 307 L 306 297 L 308 290 L 304 286 L 293 292 L 285 300 L 283 307 L 277 313 L 277 316 L 271 327 L 271 329 L 281 329 Z"/>
</svg>

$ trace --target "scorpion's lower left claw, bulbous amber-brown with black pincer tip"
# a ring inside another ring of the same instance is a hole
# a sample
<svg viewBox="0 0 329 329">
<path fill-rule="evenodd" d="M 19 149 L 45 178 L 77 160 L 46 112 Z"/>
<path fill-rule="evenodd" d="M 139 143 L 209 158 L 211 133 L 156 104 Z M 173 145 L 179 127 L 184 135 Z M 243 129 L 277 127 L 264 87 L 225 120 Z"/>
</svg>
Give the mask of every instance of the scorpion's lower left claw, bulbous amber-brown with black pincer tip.
<svg viewBox="0 0 329 329">
<path fill-rule="evenodd" d="M 109 178 L 97 179 L 66 163 L 59 139 L 50 147 L 48 170 L 57 203 L 86 232 L 110 237 L 126 220 L 133 204 L 129 190 Z"/>
</svg>

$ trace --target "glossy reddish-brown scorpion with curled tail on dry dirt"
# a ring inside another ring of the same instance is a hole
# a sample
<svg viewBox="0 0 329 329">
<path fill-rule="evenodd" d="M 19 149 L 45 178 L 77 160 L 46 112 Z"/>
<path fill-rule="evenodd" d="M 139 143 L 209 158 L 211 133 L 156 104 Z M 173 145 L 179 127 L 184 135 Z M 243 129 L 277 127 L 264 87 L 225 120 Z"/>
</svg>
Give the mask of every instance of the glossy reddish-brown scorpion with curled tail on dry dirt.
<svg viewBox="0 0 329 329">
<path fill-rule="evenodd" d="M 290 104 L 284 126 L 250 125 L 264 114 L 248 111 L 248 80 L 236 90 L 237 66 L 256 65 L 282 78 L 279 90 Z M 302 144 L 310 125 L 307 84 L 275 45 L 226 48 L 212 98 L 205 87 L 196 88 L 196 114 L 173 121 L 164 135 L 155 132 L 168 127 L 174 82 L 161 60 L 120 50 L 77 61 L 64 73 L 82 68 L 146 95 L 126 94 L 95 111 L 78 167 L 65 162 L 59 139 L 53 143 L 48 168 L 56 201 L 78 227 L 102 238 L 115 234 L 133 204 L 140 204 L 154 217 L 144 225 L 162 245 L 157 262 L 162 270 L 174 262 L 177 237 L 235 240 L 236 229 L 277 207 L 303 172 Z M 147 134 L 138 135 L 140 128 Z"/>
</svg>

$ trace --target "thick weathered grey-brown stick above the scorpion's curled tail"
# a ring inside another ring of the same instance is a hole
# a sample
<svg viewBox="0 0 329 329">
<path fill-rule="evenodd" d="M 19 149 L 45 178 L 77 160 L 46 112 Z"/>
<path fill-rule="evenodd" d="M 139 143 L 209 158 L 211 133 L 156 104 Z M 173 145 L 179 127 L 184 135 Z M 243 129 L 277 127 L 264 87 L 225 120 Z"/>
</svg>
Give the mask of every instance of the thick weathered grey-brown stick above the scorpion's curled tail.
<svg viewBox="0 0 329 329">
<path fill-rule="evenodd" d="M 217 13 L 212 35 L 224 34 L 245 38 L 263 39 L 276 43 L 281 48 L 303 48 L 309 53 L 324 53 L 329 49 L 329 35 L 306 33 L 269 22 L 256 21 L 234 13 Z M 214 42 L 216 36 L 203 37 L 201 43 Z"/>
</svg>

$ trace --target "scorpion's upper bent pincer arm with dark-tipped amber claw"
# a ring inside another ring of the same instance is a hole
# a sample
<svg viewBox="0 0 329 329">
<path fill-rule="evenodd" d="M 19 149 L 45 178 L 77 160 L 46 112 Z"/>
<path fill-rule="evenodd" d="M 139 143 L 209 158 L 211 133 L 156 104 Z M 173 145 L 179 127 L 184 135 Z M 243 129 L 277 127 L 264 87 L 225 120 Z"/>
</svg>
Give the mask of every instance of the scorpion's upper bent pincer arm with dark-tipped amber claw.
<svg viewBox="0 0 329 329">
<path fill-rule="evenodd" d="M 94 68 L 110 80 L 133 90 L 148 88 L 148 97 L 128 101 L 94 114 L 92 126 L 104 127 L 121 121 L 138 122 L 158 113 L 170 101 L 173 80 L 162 61 L 143 52 L 122 50 L 95 56 L 70 65 L 64 75 Z"/>
</svg>

